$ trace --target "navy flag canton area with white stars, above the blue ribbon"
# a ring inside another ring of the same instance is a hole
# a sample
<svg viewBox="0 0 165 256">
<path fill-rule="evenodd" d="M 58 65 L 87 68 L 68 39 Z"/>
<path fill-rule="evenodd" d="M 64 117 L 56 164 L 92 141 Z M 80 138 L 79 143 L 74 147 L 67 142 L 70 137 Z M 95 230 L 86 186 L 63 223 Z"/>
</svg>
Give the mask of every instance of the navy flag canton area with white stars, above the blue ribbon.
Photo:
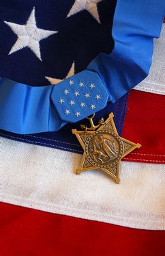
<svg viewBox="0 0 165 256">
<path fill-rule="evenodd" d="M 110 53 L 116 0 L 1 0 L 0 77 L 58 84 Z"/>
</svg>

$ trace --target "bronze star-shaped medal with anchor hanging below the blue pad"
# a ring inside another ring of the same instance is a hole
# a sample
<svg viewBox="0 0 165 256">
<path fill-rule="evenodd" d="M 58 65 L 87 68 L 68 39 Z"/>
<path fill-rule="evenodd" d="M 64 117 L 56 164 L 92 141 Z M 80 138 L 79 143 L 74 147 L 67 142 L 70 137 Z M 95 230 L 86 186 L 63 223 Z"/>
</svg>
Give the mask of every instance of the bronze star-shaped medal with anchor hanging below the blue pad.
<svg viewBox="0 0 165 256">
<path fill-rule="evenodd" d="M 72 129 L 84 150 L 76 174 L 100 168 L 119 183 L 121 159 L 141 145 L 119 136 L 112 113 L 105 121 L 100 120 L 97 126 L 93 124 L 93 116 L 88 119 L 91 127 L 85 127 L 84 131 Z"/>
</svg>

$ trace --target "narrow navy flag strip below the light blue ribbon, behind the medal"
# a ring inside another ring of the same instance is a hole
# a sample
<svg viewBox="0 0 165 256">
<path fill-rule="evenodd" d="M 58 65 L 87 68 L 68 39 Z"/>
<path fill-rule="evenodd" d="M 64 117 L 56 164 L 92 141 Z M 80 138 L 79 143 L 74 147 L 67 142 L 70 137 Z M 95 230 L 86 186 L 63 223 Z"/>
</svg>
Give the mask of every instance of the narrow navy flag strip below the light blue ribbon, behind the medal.
<svg viewBox="0 0 165 256">
<path fill-rule="evenodd" d="M 97 115 L 95 115 L 94 123 L 97 123 L 97 121 L 99 121 L 103 116 L 104 118 L 108 118 L 108 114 L 110 112 L 113 112 L 117 131 L 119 135 L 121 135 L 123 123 L 125 120 L 125 112 L 127 110 L 127 99 L 128 94 L 125 94 L 115 103 L 108 103 L 104 110 L 101 110 L 97 113 Z M 89 125 L 89 122 L 88 120 L 82 120 L 76 124 L 68 123 L 59 131 L 34 133 L 27 135 L 0 130 L 0 136 L 8 138 L 10 140 L 19 140 L 21 142 L 37 144 L 40 146 L 50 146 L 55 149 L 82 153 L 82 148 L 78 140 L 76 139 L 76 136 L 74 136 L 71 131 L 72 129 L 79 130 L 80 124 Z"/>
</svg>

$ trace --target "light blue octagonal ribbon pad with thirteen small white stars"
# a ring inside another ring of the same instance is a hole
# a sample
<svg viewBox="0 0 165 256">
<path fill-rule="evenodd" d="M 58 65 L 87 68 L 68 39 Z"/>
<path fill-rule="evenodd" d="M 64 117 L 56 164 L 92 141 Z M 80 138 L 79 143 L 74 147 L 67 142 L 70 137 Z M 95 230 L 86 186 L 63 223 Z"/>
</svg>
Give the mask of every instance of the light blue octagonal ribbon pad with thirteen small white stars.
<svg viewBox="0 0 165 256">
<path fill-rule="evenodd" d="M 108 92 L 97 73 L 82 71 L 54 86 L 50 97 L 61 119 L 76 123 L 106 107 Z"/>
</svg>

